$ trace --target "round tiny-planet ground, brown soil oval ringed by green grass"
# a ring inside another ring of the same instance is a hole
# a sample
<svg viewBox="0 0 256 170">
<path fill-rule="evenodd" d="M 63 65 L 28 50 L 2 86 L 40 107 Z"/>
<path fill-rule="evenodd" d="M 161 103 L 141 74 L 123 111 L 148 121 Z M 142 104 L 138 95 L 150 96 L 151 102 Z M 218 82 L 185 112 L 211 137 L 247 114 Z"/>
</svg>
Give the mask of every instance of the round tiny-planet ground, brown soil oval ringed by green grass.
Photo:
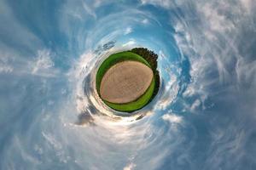
<svg viewBox="0 0 256 170">
<path fill-rule="evenodd" d="M 113 110 L 125 112 L 147 105 L 159 82 L 150 64 L 131 51 L 108 56 L 96 73 L 96 90 L 102 101 Z"/>
</svg>

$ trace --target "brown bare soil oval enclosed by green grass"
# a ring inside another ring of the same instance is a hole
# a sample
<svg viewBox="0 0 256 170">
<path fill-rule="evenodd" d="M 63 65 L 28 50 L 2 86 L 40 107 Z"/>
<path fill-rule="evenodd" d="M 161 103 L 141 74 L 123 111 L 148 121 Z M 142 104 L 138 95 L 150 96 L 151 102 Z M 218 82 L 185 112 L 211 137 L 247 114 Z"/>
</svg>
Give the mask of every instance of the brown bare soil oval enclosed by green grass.
<svg viewBox="0 0 256 170">
<path fill-rule="evenodd" d="M 153 76 L 153 71 L 143 63 L 120 62 L 102 77 L 101 97 L 115 104 L 134 101 L 146 92 Z"/>
</svg>

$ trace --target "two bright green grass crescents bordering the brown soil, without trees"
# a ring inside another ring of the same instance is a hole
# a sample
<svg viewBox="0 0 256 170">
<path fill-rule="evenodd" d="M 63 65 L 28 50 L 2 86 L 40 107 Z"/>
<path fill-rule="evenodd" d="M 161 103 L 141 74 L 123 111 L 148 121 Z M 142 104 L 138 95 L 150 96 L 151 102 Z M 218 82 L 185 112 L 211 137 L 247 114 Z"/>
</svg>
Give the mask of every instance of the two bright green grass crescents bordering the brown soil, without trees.
<svg viewBox="0 0 256 170">
<path fill-rule="evenodd" d="M 143 59 L 143 57 L 141 57 L 138 54 L 134 54 L 131 52 L 120 52 L 117 54 L 112 54 L 110 55 L 107 59 L 105 59 L 102 63 L 102 65 L 99 67 L 97 74 L 96 74 L 96 90 L 98 92 L 98 94 L 100 95 L 100 86 L 101 86 L 101 82 L 102 82 L 102 77 L 104 76 L 104 74 L 106 73 L 106 71 L 108 71 L 108 69 L 121 62 L 121 61 L 125 61 L 125 60 L 135 60 L 138 62 L 141 62 L 145 65 L 148 65 L 148 67 L 151 68 L 151 65 L 148 64 L 148 61 L 146 59 Z M 143 108 L 144 105 L 147 105 L 148 102 L 150 101 L 152 94 L 154 93 L 154 87 L 155 87 L 155 79 L 153 78 L 149 88 L 147 89 L 147 91 L 137 100 L 132 101 L 130 103 L 127 104 L 113 104 L 113 103 L 109 103 L 108 101 L 104 101 L 104 103 L 106 105 L 108 105 L 109 107 L 111 107 L 113 110 L 116 111 L 127 111 L 127 112 L 131 112 L 131 111 L 137 111 L 141 108 Z"/>
</svg>

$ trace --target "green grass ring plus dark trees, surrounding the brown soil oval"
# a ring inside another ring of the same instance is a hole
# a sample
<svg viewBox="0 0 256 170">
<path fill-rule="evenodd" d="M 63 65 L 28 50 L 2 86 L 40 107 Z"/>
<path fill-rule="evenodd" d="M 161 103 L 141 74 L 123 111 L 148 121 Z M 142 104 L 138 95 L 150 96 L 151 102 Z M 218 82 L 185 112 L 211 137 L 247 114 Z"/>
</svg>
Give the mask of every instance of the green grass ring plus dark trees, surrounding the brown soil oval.
<svg viewBox="0 0 256 170">
<path fill-rule="evenodd" d="M 149 56 L 148 56 L 149 55 Z M 152 56 L 152 58 L 150 57 Z M 152 51 L 149 51 L 147 48 L 133 48 L 131 51 L 120 52 L 117 54 L 110 55 L 107 59 L 105 59 L 102 65 L 99 67 L 96 73 L 96 90 L 100 95 L 100 86 L 102 82 L 102 77 L 108 71 L 110 67 L 113 65 L 125 61 L 125 60 L 134 60 L 143 63 L 144 65 L 148 65 L 154 72 L 154 78 L 148 87 L 147 91 L 137 100 L 132 101 L 126 104 L 113 104 L 108 101 L 103 102 L 116 111 L 137 111 L 143 106 L 147 105 L 157 94 L 159 85 L 160 85 L 160 77 L 159 72 L 156 70 L 157 68 L 157 55 Z M 101 97 L 101 96 L 100 96 Z"/>
</svg>

